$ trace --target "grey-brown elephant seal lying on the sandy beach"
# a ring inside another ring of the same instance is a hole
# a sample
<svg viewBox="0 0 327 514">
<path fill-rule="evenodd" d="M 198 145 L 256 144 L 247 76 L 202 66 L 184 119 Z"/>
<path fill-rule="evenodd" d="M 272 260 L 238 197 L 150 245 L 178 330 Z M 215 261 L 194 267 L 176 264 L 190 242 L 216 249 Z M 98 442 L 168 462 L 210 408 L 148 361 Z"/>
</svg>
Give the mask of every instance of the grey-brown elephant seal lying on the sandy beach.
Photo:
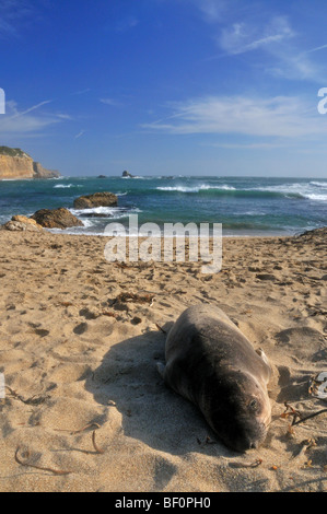
<svg viewBox="0 0 327 514">
<path fill-rule="evenodd" d="M 187 308 L 170 330 L 166 385 L 198 406 L 220 440 L 238 452 L 258 447 L 267 435 L 271 366 L 218 307 Z"/>
</svg>

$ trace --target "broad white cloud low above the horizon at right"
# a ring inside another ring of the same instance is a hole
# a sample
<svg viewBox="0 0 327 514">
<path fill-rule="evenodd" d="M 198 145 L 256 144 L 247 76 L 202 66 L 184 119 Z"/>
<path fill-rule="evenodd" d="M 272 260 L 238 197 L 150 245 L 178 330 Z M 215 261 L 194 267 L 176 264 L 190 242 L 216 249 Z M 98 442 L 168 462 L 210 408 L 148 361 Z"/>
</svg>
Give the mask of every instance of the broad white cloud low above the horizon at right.
<svg viewBox="0 0 327 514">
<path fill-rule="evenodd" d="M 176 135 L 211 133 L 297 138 L 327 133 L 327 122 L 303 100 L 207 96 L 171 104 L 174 113 L 143 128 Z"/>
</svg>

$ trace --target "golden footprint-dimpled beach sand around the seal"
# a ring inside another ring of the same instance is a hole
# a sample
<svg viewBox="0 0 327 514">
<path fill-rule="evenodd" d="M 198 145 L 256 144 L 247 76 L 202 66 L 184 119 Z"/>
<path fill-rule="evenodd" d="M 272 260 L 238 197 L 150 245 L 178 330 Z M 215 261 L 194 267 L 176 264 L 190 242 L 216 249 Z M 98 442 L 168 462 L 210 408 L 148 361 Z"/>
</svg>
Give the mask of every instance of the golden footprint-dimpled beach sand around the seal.
<svg viewBox="0 0 327 514">
<path fill-rule="evenodd" d="M 326 491 L 326 230 L 226 238 L 201 264 L 109 264 L 104 237 L 0 232 L 1 491 Z M 189 305 L 222 308 L 273 363 L 265 444 L 237 454 L 156 372 Z M 209 437 L 209 439 L 208 439 Z M 214 443 L 214 444 L 210 444 Z M 305 443 L 305 444 L 304 444 Z"/>
</svg>

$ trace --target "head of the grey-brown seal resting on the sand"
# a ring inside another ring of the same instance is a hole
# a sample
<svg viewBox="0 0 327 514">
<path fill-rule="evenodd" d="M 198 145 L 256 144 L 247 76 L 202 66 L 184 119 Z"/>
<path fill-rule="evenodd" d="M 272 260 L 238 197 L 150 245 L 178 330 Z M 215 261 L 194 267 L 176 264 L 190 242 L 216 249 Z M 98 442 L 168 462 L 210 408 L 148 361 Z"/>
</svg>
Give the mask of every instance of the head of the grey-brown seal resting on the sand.
<svg viewBox="0 0 327 514">
<path fill-rule="evenodd" d="M 226 446 L 237 452 L 257 448 L 266 439 L 271 406 L 259 382 L 248 373 L 231 372 L 207 382 L 205 416 Z"/>
</svg>

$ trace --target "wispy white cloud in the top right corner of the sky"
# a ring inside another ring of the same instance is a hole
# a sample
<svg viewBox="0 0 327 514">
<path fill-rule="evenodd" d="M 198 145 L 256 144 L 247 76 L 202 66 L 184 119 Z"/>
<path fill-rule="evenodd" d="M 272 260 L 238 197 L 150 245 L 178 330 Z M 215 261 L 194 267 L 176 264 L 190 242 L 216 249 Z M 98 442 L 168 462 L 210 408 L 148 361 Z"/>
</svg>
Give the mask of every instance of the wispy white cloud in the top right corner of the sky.
<svg viewBox="0 0 327 514">
<path fill-rule="evenodd" d="M 215 27 L 213 38 L 220 52 L 207 60 L 260 50 L 256 66 L 265 72 L 279 79 L 324 82 L 325 66 L 315 62 L 311 54 L 327 45 L 305 51 L 303 35 L 294 30 L 288 16 L 272 10 L 268 2 L 258 1 L 255 8 L 240 0 L 192 0 L 192 3 Z"/>
</svg>

